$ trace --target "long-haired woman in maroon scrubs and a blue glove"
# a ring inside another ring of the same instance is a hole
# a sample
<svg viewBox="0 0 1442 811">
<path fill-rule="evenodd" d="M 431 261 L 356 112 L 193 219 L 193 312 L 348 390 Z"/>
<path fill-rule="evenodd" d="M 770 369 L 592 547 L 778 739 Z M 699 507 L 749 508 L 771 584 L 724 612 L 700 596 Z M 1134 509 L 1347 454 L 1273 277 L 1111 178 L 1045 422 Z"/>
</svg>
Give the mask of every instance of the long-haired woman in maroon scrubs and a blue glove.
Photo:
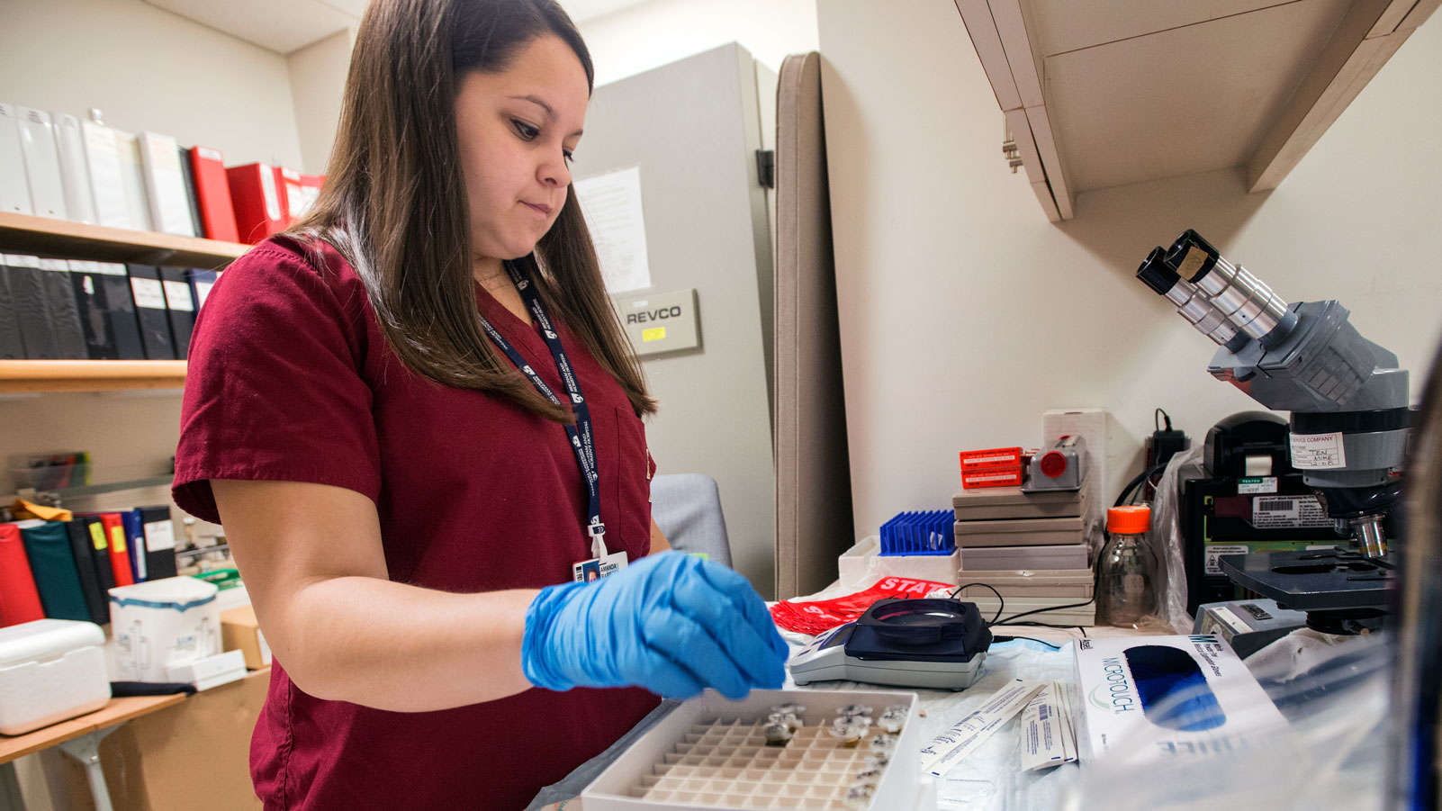
<svg viewBox="0 0 1442 811">
<path fill-rule="evenodd" d="M 650 521 L 570 189 L 591 82 L 552 0 L 375 0 L 314 211 L 198 319 L 174 496 L 275 654 L 265 808 L 522 808 L 656 693 L 782 683 L 750 586 Z"/>
</svg>

